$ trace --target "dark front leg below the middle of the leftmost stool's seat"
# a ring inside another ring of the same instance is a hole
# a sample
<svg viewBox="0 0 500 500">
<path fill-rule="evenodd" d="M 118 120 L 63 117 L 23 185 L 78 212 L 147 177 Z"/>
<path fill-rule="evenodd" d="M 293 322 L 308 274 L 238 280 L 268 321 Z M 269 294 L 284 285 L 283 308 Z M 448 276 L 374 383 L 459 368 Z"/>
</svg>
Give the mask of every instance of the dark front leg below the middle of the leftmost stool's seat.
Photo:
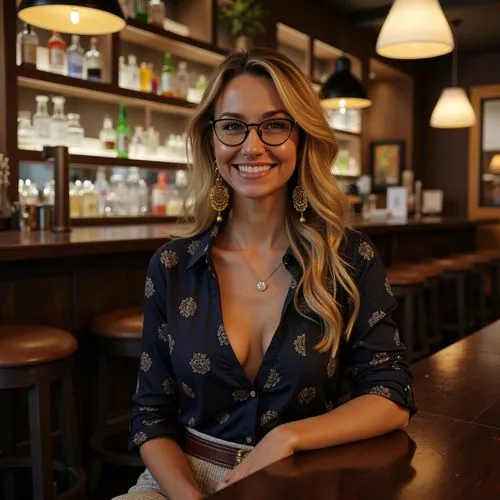
<svg viewBox="0 0 500 500">
<path fill-rule="evenodd" d="M 31 459 L 33 463 L 33 500 L 55 497 L 52 477 L 52 428 L 50 386 L 41 380 L 28 390 Z"/>
</svg>

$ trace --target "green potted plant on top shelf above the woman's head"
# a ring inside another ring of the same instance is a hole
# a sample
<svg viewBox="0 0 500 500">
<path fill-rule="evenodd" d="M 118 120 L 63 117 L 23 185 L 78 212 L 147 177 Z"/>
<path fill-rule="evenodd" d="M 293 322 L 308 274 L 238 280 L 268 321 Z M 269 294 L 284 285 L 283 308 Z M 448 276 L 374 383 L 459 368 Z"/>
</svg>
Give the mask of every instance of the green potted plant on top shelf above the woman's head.
<svg viewBox="0 0 500 500">
<path fill-rule="evenodd" d="M 253 37 L 264 33 L 267 15 L 259 0 L 232 0 L 219 8 L 219 19 L 235 37 L 235 46 L 249 50 Z"/>
</svg>

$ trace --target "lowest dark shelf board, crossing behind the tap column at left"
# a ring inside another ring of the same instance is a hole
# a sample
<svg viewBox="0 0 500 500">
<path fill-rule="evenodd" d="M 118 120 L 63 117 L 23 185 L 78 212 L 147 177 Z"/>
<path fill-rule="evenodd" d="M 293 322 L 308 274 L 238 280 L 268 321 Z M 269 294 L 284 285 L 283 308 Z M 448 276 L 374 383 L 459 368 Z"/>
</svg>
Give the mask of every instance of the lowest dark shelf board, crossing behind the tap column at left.
<svg viewBox="0 0 500 500">
<path fill-rule="evenodd" d="M 43 160 L 40 151 L 27 149 L 18 150 L 18 160 L 20 162 L 30 163 L 50 163 L 50 160 Z M 185 163 L 172 163 L 154 160 L 135 160 L 133 158 L 112 158 L 108 156 L 87 156 L 70 155 L 70 165 L 95 165 L 104 167 L 139 167 L 161 170 L 180 170 L 185 169 Z"/>
</svg>

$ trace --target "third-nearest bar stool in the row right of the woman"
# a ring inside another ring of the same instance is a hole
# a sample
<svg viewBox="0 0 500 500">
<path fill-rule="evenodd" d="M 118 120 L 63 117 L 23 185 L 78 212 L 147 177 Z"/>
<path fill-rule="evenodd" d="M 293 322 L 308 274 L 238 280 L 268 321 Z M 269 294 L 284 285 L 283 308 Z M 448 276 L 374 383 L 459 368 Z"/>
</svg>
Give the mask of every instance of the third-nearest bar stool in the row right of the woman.
<svg viewBox="0 0 500 500">
<path fill-rule="evenodd" d="M 445 331 L 455 332 L 458 338 L 464 338 L 468 330 L 474 328 L 470 296 L 467 293 L 467 285 L 470 283 L 470 261 L 449 257 L 425 262 L 439 266 L 442 272 L 442 281 L 444 284 L 451 285 L 454 290 L 452 319 L 451 321 L 442 321 L 441 328 Z"/>
</svg>

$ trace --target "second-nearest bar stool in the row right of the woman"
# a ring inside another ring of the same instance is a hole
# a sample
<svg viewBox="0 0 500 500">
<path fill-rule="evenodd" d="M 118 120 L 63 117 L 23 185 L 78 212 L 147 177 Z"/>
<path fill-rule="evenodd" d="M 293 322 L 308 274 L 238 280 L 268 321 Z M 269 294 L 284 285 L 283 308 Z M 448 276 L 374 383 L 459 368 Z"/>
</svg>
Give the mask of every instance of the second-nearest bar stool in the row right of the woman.
<svg viewBox="0 0 500 500">
<path fill-rule="evenodd" d="M 431 262 L 411 262 L 408 264 L 397 264 L 395 269 L 404 269 L 409 272 L 421 273 L 424 281 L 424 307 L 426 318 L 426 333 L 429 348 L 439 349 L 443 343 L 443 335 L 439 319 L 439 280 L 442 276 L 441 268 Z"/>
</svg>

